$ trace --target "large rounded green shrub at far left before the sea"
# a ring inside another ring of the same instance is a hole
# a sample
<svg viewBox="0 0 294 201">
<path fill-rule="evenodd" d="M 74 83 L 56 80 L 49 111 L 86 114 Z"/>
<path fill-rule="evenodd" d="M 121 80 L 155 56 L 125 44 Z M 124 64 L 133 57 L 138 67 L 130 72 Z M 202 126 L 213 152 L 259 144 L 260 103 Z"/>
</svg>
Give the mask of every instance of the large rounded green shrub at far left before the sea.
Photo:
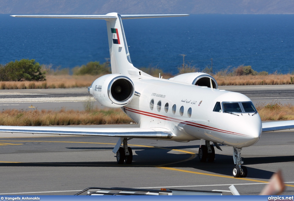
<svg viewBox="0 0 294 201">
<path fill-rule="evenodd" d="M 0 65 L 0 81 L 43 81 L 45 72 L 35 59 L 21 59 Z"/>
</svg>

